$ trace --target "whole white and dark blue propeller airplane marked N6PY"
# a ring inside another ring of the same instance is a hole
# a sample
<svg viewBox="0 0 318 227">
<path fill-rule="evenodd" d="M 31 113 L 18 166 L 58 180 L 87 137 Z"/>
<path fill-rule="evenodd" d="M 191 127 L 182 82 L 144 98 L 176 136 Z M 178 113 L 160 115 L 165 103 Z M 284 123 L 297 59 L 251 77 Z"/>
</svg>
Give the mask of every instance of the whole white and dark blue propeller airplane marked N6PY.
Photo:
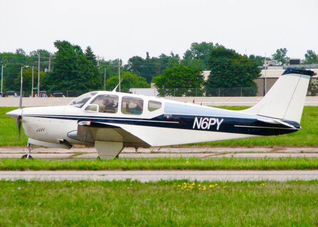
<svg viewBox="0 0 318 227">
<path fill-rule="evenodd" d="M 32 146 L 95 146 L 100 158 L 138 149 L 259 136 L 300 130 L 312 71 L 288 68 L 255 106 L 231 111 L 163 98 L 92 91 L 67 106 L 20 108 L 6 113 L 23 123 Z"/>
</svg>

